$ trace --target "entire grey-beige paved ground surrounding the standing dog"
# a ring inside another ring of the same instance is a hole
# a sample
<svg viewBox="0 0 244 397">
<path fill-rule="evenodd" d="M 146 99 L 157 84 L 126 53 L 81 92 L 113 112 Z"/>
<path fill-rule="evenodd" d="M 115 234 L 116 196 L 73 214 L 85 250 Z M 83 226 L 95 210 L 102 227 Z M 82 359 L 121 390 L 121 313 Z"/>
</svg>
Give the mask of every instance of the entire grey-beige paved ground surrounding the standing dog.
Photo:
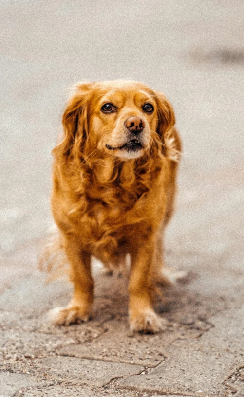
<svg viewBox="0 0 244 397">
<path fill-rule="evenodd" d="M 0 396 L 244 396 L 244 3 L 3 0 L 0 22 Z M 162 90 L 184 155 L 158 335 L 131 335 L 127 282 L 96 267 L 94 318 L 47 322 L 51 149 L 67 87 L 132 78 Z"/>
</svg>

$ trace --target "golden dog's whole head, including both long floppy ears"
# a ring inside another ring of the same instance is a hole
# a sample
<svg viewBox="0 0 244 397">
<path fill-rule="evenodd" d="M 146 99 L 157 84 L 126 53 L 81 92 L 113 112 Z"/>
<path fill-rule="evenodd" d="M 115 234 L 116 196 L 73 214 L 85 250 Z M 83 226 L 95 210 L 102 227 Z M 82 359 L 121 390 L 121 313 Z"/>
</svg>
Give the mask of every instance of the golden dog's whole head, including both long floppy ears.
<svg viewBox="0 0 244 397">
<path fill-rule="evenodd" d="M 163 151 L 174 112 L 163 94 L 135 81 L 84 82 L 63 114 L 64 140 L 54 153 L 85 159 L 99 151 L 122 160 Z"/>
</svg>

